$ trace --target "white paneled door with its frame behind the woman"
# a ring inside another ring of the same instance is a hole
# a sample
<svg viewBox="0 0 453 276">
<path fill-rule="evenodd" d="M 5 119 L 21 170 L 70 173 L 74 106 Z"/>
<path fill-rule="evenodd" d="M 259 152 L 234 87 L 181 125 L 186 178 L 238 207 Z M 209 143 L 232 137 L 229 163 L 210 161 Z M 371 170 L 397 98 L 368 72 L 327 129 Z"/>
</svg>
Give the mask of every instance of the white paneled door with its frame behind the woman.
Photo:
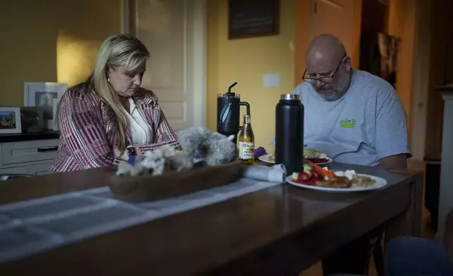
<svg viewBox="0 0 453 276">
<path fill-rule="evenodd" d="M 142 87 L 173 130 L 205 127 L 206 0 L 122 0 L 122 32 L 148 47 Z"/>
</svg>

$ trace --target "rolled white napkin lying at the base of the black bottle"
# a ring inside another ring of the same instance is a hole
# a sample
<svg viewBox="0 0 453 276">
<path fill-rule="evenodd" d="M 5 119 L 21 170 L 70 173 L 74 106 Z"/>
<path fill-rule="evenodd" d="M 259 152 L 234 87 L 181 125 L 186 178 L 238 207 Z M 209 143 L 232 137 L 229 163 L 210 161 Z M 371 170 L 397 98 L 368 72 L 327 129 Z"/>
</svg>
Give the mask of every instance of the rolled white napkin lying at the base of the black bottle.
<svg viewBox="0 0 453 276">
<path fill-rule="evenodd" d="M 286 167 L 283 164 L 273 165 L 272 167 L 253 165 L 245 168 L 243 177 L 267 182 L 283 183 L 286 181 Z"/>
</svg>

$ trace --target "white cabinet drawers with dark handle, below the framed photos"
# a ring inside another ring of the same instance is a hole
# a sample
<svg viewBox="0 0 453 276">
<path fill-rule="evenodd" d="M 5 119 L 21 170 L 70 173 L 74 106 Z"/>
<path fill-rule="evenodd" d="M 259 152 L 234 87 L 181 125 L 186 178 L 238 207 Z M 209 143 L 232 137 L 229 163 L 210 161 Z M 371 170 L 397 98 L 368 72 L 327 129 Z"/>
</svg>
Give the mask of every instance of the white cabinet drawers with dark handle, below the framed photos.
<svg viewBox="0 0 453 276">
<path fill-rule="evenodd" d="M 44 175 L 56 156 L 59 139 L 0 143 L 0 174 Z"/>
</svg>

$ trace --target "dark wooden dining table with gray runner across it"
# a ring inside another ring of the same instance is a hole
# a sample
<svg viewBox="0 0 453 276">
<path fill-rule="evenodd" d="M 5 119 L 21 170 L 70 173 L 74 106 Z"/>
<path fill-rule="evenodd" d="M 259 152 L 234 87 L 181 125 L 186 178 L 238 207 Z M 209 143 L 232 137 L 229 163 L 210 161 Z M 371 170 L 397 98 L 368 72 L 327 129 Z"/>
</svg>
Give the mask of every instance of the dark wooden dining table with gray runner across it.
<svg viewBox="0 0 453 276">
<path fill-rule="evenodd" d="M 419 236 L 423 172 L 329 164 L 382 177 L 372 192 L 279 184 L 0 263 L 0 275 L 296 275 L 385 223 Z M 110 168 L 0 182 L 0 204 L 108 186 Z"/>
</svg>

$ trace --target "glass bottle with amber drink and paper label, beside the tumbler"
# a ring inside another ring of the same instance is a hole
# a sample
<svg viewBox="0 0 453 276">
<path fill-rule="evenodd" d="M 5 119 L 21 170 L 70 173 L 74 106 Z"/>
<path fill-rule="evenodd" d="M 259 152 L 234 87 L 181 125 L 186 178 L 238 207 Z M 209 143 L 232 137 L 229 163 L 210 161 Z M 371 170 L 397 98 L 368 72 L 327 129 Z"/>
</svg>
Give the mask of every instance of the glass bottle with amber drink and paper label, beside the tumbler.
<svg viewBox="0 0 453 276">
<path fill-rule="evenodd" d="M 250 115 L 244 115 L 241 132 L 239 132 L 239 159 L 244 165 L 253 165 L 255 161 L 255 135 L 252 130 Z"/>
</svg>

